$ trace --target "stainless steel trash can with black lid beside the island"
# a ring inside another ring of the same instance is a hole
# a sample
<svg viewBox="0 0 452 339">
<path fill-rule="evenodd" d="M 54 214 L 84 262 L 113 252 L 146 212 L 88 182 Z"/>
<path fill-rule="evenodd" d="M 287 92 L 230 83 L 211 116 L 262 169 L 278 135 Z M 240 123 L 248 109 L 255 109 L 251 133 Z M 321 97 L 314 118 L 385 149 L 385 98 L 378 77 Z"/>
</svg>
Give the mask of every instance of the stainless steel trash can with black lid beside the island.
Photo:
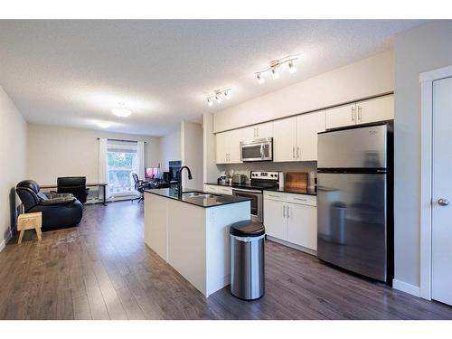
<svg viewBox="0 0 452 339">
<path fill-rule="evenodd" d="M 265 228 L 260 222 L 239 221 L 231 225 L 231 293 L 254 300 L 264 295 Z"/>
</svg>

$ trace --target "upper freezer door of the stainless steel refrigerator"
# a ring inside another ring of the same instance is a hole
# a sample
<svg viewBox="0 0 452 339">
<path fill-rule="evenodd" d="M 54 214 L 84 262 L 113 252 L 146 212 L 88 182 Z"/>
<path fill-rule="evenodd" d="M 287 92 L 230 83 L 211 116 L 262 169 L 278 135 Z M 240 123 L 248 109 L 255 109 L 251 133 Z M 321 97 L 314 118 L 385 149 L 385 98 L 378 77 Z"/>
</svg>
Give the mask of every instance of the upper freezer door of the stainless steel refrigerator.
<svg viewBox="0 0 452 339">
<path fill-rule="evenodd" d="M 360 127 L 318 135 L 318 168 L 386 168 L 387 126 Z"/>
</svg>

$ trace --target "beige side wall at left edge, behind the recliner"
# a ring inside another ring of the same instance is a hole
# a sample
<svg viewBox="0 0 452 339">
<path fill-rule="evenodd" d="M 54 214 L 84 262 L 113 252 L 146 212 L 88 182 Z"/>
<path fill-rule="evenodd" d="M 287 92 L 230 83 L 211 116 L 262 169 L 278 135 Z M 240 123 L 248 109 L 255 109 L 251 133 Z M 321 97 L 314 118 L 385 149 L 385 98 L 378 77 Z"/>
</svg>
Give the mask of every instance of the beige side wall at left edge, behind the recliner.
<svg viewBox="0 0 452 339">
<path fill-rule="evenodd" d="M 0 122 L 0 250 L 3 250 L 15 227 L 15 213 L 20 205 L 14 187 L 26 176 L 27 124 L 1 86 Z"/>
</svg>

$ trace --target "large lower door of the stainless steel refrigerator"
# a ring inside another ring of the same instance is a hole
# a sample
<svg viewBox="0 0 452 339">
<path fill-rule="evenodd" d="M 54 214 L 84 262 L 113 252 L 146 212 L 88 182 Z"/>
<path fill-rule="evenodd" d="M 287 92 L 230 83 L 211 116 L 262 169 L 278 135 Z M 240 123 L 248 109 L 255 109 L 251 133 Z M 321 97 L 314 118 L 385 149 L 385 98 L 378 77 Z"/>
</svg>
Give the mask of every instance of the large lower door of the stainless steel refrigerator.
<svg viewBox="0 0 452 339">
<path fill-rule="evenodd" d="M 318 174 L 317 257 L 387 280 L 386 174 Z"/>
</svg>

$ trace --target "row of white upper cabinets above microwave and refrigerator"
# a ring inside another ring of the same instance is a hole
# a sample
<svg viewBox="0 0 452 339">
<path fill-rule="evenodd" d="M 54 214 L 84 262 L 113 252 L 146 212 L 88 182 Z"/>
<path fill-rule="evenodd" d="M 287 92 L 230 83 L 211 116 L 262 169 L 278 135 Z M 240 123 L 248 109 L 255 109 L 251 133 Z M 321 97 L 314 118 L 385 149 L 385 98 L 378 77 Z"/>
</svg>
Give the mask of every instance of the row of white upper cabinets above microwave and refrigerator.
<svg viewBox="0 0 452 339">
<path fill-rule="evenodd" d="M 394 118 L 394 96 L 282 118 L 251 127 L 218 133 L 217 164 L 240 163 L 240 141 L 273 137 L 273 161 L 317 160 L 317 133 L 328 128 L 390 120 Z"/>
</svg>

